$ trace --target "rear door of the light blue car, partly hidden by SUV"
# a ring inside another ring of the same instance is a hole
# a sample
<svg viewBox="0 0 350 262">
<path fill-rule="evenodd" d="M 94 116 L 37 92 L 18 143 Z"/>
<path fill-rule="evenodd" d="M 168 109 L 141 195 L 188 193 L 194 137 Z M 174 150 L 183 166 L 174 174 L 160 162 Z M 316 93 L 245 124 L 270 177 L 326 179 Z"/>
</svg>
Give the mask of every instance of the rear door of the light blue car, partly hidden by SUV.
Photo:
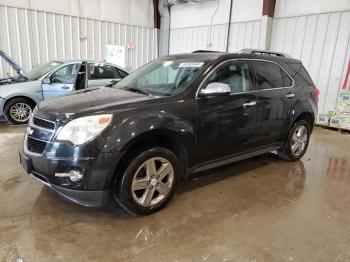
<svg viewBox="0 0 350 262">
<path fill-rule="evenodd" d="M 117 67 L 105 63 L 88 64 L 88 87 L 105 86 L 122 77 Z"/>
</svg>

